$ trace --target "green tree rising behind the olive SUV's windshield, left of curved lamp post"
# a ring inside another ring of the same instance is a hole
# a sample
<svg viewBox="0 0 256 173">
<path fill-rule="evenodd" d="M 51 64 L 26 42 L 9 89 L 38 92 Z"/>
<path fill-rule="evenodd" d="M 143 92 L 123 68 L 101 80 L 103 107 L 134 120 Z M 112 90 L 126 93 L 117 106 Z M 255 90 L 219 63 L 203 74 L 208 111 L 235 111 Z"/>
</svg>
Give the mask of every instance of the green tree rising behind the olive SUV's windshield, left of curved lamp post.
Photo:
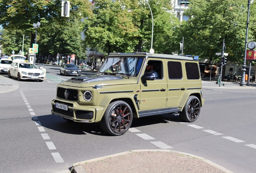
<svg viewBox="0 0 256 173">
<path fill-rule="evenodd" d="M 99 52 L 132 52 L 138 30 L 122 1 L 95 0 L 93 15 L 85 20 L 85 46 Z"/>
</svg>

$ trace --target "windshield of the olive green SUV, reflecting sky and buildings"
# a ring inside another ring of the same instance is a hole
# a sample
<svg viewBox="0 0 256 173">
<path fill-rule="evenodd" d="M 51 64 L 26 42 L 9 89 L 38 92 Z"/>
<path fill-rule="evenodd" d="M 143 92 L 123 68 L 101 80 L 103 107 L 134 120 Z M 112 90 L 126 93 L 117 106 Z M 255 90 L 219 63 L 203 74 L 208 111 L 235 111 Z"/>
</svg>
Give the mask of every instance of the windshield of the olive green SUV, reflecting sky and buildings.
<svg viewBox="0 0 256 173">
<path fill-rule="evenodd" d="M 140 71 L 144 58 L 139 57 L 108 57 L 99 70 L 99 74 L 126 74 L 136 77 Z"/>
</svg>

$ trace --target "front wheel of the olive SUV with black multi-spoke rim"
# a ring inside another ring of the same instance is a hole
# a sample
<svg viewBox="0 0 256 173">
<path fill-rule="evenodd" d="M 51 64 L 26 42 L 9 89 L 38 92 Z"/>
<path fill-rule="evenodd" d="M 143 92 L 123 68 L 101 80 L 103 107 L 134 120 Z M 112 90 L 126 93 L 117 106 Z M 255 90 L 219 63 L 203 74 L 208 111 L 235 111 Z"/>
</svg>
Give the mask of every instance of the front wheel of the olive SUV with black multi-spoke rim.
<svg viewBox="0 0 256 173">
<path fill-rule="evenodd" d="M 124 135 L 132 124 L 132 109 L 124 101 L 110 103 L 101 119 L 101 129 L 113 136 Z"/>
</svg>

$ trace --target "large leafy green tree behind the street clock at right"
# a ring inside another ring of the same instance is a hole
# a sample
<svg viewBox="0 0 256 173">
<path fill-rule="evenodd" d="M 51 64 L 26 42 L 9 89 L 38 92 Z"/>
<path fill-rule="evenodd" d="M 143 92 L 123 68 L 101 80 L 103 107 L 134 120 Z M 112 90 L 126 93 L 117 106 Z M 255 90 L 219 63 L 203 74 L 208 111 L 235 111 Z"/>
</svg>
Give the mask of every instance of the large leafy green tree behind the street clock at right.
<svg viewBox="0 0 256 173">
<path fill-rule="evenodd" d="M 182 24 L 184 53 L 213 58 L 221 52 L 223 39 L 228 61 L 242 63 L 246 36 L 247 2 L 244 0 L 191 0 L 185 12 L 190 19 Z M 248 37 L 252 38 L 249 31 Z"/>
</svg>

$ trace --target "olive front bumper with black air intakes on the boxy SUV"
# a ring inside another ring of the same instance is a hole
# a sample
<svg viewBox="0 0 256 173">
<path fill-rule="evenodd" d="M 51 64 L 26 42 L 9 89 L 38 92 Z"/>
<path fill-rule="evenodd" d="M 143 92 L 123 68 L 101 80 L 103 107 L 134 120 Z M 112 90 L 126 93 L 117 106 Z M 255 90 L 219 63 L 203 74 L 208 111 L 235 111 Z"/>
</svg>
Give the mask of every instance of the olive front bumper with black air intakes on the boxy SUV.
<svg viewBox="0 0 256 173">
<path fill-rule="evenodd" d="M 68 105 L 68 111 L 56 108 L 55 103 Z M 52 114 L 75 122 L 96 123 L 101 121 L 103 117 L 103 109 L 100 106 L 84 106 L 78 105 L 76 102 L 52 100 Z"/>
</svg>

